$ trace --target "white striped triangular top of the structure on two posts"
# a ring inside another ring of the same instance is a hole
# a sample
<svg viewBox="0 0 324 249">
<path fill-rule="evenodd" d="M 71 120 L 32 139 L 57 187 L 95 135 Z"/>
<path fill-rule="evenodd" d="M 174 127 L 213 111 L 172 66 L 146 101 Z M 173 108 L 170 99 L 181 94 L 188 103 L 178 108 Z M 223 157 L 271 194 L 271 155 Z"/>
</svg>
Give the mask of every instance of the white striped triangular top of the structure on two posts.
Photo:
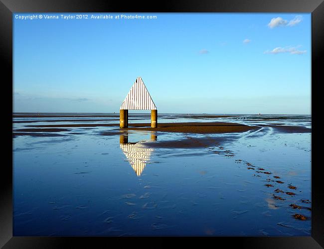
<svg viewBox="0 0 324 249">
<path fill-rule="evenodd" d="M 157 110 L 148 89 L 141 77 L 138 77 L 126 96 L 121 110 Z"/>
</svg>

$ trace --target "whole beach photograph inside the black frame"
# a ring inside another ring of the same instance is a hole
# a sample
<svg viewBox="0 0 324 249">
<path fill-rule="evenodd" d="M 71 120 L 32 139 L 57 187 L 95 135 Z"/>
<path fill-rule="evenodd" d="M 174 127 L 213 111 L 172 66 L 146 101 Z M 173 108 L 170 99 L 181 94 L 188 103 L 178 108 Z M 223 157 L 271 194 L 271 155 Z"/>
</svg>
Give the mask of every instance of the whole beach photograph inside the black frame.
<svg viewBox="0 0 324 249">
<path fill-rule="evenodd" d="M 13 12 L 14 237 L 312 237 L 311 12 Z"/>
</svg>

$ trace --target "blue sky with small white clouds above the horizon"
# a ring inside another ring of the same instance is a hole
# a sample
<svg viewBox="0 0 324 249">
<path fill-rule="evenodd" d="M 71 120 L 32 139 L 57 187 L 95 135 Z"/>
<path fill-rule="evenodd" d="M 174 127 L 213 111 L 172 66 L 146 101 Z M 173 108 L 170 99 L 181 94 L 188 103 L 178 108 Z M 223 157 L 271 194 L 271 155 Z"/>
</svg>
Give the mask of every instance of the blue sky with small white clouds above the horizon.
<svg viewBox="0 0 324 249">
<path fill-rule="evenodd" d="M 13 13 L 13 112 L 311 114 L 310 13 L 79 14 Z"/>
</svg>

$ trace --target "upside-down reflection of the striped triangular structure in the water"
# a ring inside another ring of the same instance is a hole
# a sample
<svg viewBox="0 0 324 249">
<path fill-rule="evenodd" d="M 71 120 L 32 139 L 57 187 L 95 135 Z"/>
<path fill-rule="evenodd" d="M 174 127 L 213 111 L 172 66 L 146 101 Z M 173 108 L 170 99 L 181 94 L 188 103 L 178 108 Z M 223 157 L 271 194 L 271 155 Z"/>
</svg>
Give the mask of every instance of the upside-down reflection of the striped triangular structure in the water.
<svg viewBox="0 0 324 249">
<path fill-rule="evenodd" d="M 151 133 L 151 140 L 157 140 L 157 135 L 154 132 Z M 154 149 L 144 146 L 142 142 L 129 143 L 128 135 L 120 135 L 120 147 L 137 176 L 141 176 Z"/>
</svg>

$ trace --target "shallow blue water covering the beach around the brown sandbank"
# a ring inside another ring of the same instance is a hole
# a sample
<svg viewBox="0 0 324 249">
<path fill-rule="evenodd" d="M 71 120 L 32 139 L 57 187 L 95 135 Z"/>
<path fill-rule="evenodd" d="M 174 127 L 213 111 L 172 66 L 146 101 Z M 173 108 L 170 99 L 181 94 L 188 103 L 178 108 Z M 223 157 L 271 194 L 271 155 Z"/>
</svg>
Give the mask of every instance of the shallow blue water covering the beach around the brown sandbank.
<svg viewBox="0 0 324 249">
<path fill-rule="evenodd" d="M 311 236 L 311 132 L 277 128 L 311 128 L 311 116 L 159 114 L 159 123 L 260 126 L 185 134 L 114 126 L 16 133 L 39 124 L 118 124 L 119 114 L 16 115 L 14 236 Z M 130 114 L 129 123 L 150 123 L 150 114 Z M 160 143 L 207 138 L 217 142 Z"/>
</svg>

